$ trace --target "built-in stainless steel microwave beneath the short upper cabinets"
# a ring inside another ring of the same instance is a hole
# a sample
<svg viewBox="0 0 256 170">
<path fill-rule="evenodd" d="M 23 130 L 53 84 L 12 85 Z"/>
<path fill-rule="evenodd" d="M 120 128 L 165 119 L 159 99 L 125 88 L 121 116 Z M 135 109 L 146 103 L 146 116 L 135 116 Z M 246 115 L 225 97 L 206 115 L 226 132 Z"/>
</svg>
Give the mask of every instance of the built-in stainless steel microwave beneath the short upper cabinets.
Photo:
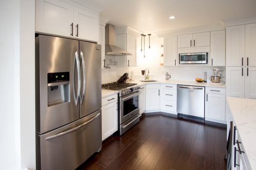
<svg viewBox="0 0 256 170">
<path fill-rule="evenodd" d="M 180 64 L 208 64 L 208 53 L 180 54 Z"/>
</svg>

